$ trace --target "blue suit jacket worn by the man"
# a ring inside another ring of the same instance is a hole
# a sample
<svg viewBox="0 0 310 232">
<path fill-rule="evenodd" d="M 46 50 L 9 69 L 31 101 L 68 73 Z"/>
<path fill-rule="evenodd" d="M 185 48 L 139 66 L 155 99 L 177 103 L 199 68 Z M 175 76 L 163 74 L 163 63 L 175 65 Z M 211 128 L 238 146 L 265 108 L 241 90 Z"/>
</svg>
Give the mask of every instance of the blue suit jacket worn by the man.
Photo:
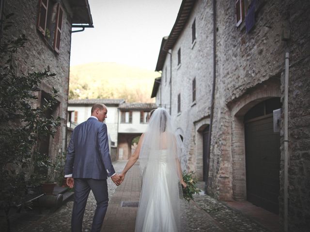
<svg viewBox="0 0 310 232">
<path fill-rule="evenodd" d="M 72 132 L 64 174 L 73 178 L 107 179 L 114 174 L 107 125 L 90 117 Z"/>
</svg>

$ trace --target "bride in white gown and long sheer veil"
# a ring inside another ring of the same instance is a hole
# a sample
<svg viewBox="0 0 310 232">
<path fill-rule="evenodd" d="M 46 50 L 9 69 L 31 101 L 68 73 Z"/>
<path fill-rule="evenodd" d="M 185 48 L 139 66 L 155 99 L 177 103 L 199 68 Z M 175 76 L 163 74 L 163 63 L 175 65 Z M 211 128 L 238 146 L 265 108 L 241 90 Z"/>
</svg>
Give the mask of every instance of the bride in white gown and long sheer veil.
<svg viewBox="0 0 310 232">
<path fill-rule="evenodd" d="M 167 111 L 158 108 L 150 113 L 147 131 L 120 174 L 139 159 L 142 188 L 136 218 L 136 232 L 187 231 L 183 201 L 182 170 L 186 170 L 182 155 L 182 141 L 173 133 Z M 181 168 L 182 166 L 182 168 Z"/>
</svg>

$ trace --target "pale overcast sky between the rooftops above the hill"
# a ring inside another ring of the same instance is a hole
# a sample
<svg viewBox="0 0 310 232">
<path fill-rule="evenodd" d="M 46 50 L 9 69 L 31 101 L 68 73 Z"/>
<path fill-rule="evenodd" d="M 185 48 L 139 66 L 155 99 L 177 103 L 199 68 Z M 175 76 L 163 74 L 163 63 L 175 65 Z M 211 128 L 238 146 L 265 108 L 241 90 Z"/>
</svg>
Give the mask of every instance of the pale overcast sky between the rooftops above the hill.
<svg viewBox="0 0 310 232">
<path fill-rule="evenodd" d="M 72 33 L 70 65 L 116 62 L 155 70 L 182 0 L 89 0 L 94 28 Z M 76 30 L 76 29 L 73 29 Z"/>
</svg>

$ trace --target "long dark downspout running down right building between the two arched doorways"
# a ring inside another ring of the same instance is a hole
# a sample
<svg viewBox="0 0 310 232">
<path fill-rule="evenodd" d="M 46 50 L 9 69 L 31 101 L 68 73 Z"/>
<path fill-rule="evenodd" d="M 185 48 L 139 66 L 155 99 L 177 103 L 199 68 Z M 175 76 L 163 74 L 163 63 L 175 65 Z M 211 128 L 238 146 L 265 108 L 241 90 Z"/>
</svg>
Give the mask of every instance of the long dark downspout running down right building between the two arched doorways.
<svg viewBox="0 0 310 232">
<path fill-rule="evenodd" d="M 210 166 L 210 152 L 211 152 L 211 133 L 212 133 L 212 123 L 213 123 L 213 110 L 214 110 L 214 96 L 215 96 L 215 85 L 216 85 L 216 0 L 213 0 L 213 85 L 212 85 L 212 95 L 211 95 L 211 109 L 210 109 L 210 125 L 208 134 L 208 150 L 207 150 L 207 170 L 205 179 L 205 191 L 207 191 L 207 184 L 209 178 L 209 166 Z"/>
</svg>

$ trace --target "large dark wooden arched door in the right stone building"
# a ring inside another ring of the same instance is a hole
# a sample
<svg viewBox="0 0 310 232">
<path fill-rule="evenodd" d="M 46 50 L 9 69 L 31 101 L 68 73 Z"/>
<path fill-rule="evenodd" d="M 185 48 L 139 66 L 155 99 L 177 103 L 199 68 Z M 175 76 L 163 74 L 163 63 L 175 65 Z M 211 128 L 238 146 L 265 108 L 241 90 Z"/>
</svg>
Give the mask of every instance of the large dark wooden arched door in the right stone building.
<svg viewBox="0 0 310 232">
<path fill-rule="evenodd" d="M 279 213 L 280 134 L 273 130 L 279 98 L 253 106 L 244 116 L 247 200 Z"/>
</svg>

